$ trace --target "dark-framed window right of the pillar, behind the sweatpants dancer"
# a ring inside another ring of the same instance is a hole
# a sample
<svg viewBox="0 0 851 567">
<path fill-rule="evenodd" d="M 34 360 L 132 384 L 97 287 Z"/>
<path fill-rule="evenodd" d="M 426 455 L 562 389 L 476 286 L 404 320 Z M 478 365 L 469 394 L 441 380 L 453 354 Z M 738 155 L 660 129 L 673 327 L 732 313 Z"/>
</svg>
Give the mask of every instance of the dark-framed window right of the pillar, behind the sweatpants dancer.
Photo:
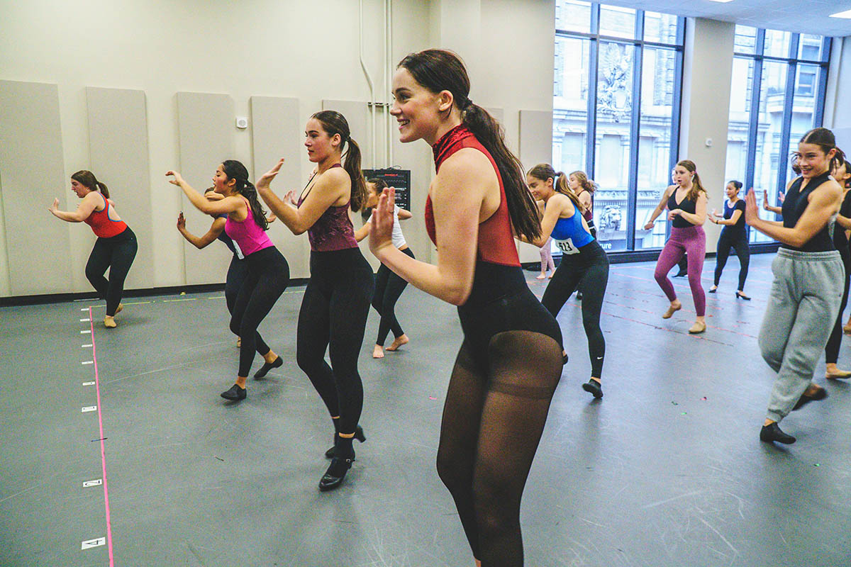
<svg viewBox="0 0 851 567">
<path fill-rule="evenodd" d="M 780 204 L 794 177 L 791 152 L 821 125 L 830 48 L 830 37 L 736 26 L 727 179 L 753 187 L 757 201 L 765 191 Z M 752 242 L 770 240 L 751 230 Z"/>
</svg>

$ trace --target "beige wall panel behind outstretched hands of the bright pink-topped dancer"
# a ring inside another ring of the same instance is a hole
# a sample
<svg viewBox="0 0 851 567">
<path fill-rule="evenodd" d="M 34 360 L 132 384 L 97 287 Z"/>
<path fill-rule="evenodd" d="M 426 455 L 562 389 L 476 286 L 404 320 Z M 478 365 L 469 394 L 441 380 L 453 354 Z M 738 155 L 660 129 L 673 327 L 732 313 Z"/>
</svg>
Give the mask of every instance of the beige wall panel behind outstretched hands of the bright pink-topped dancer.
<svg viewBox="0 0 851 567">
<path fill-rule="evenodd" d="M 233 99 L 227 94 L 177 94 L 180 174 L 200 192 L 213 184 L 215 168 L 221 162 L 237 159 L 235 119 Z M 180 191 L 174 185 L 168 187 Z M 198 212 L 186 196 L 183 196 L 183 214 L 186 216 L 186 228 L 193 235 L 203 235 L 213 222 L 213 218 Z M 187 284 L 225 281 L 232 254 L 224 244 L 213 242 L 198 250 L 184 241 L 183 249 Z"/>
</svg>

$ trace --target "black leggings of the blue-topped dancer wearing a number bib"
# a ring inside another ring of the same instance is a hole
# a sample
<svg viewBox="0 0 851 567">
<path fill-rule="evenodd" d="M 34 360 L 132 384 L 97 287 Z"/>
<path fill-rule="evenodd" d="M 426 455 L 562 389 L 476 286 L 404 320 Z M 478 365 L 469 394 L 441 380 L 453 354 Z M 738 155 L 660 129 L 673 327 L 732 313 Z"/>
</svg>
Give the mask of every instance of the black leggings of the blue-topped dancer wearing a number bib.
<svg viewBox="0 0 851 567">
<path fill-rule="evenodd" d="M 600 312 L 608 284 L 608 257 L 597 241 L 591 241 L 578 250 L 579 253 L 562 254 L 562 261 L 546 286 L 540 303 L 553 317 L 557 317 L 570 294 L 579 288 L 582 292 L 582 326 L 585 327 L 588 354 L 591 356 L 591 376 L 601 378 L 606 340 L 600 329 Z"/>
</svg>

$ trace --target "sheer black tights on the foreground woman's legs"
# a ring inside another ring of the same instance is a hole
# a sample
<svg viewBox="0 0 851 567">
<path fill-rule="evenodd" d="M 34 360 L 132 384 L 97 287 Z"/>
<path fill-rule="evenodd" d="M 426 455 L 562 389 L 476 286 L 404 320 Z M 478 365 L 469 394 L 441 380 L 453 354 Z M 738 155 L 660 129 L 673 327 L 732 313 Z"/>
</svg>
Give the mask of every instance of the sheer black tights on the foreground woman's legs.
<svg viewBox="0 0 851 567">
<path fill-rule="evenodd" d="M 461 345 L 443 407 L 437 473 L 483 567 L 523 565 L 520 499 L 562 373 L 562 348 L 528 331 L 500 332 L 489 369 Z"/>
</svg>

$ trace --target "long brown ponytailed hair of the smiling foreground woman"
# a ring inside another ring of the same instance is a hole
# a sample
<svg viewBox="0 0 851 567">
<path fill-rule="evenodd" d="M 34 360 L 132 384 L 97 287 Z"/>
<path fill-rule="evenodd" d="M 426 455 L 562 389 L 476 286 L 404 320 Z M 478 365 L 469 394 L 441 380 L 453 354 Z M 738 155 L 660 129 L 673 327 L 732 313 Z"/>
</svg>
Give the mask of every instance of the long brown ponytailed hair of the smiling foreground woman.
<svg viewBox="0 0 851 567">
<path fill-rule="evenodd" d="M 443 49 L 426 49 L 408 54 L 399 62 L 397 69 L 399 67 L 407 69 L 414 81 L 432 93 L 448 91 L 452 94 L 455 107 L 461 111 L 461 121 L 496 162 L 514 230 L 528 240 L 538 238 L 538 207 L 526 187 L 523 164 L 505 145 L 505 131 L 500 122 L 470 99 L 470 77 L 460 57 Z"/>
</svg>

